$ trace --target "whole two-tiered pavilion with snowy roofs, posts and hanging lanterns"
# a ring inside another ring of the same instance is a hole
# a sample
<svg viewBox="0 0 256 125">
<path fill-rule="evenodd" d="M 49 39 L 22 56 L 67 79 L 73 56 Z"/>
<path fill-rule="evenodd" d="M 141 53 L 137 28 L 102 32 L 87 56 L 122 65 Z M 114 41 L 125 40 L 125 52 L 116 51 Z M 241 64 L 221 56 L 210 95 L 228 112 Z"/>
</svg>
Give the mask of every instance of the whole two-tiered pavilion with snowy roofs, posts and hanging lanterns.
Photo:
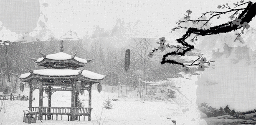
<svg viewBox="0 0 256 125">
<path fill-rule="evenodd" d="M 91 120 L 91 86 L 101 82 L 105 75 L 100 75 L 88 70 L 78 70 L 78 67 L 84 67 L 91 60 L 81 59 L 74 55 L 68 55 L 61 52 L 43 55 L 33 61 L 40 66 L 46 67 L 41 70 L 30 70 L 28 73 L 21 74 L 20 80 L 28 82 L 30 85 L 29 110 L 38 112 L 38 118 L 52 119 L 53 115 L 68 115 L 68 120 L 74 121 L 81 115 L 88 116 Z M 99 85 L 98 85 L 99 86 Z M 39 89 L 39 106 L 32 107 L 33 90 Z M 43 107 L 43 91 L 48 95 L 48 107 Z M 89 107 L 77 107 L 79 92 L 81 94 L 87 90 L 89 92 Z M 55 91 L 71 91 L 71 107 L 51 107 L 51 95 Z"/>
</svg>

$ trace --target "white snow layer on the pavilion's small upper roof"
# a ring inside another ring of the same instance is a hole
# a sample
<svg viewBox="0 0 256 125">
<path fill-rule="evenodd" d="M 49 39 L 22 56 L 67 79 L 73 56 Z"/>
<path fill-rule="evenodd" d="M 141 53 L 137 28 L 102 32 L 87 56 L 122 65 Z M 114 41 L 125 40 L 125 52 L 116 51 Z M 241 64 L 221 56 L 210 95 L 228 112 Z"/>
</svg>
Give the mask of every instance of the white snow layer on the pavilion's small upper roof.
<svg viewBox="0 0 256 125">
<path fill-rule="evenodd" d="M 68 59 L 72 59 L 72 55 L 68 55 L 64 52 L 58 52 L 55 54 L 46 55 L 46 58 L 51 60 L 68 60 Z M 79 57 L 74 57 L 74 59 L 82 63 L 87 63 L 87 60 Z M 42 60 L 43 60 L 43 57 L 38 58 L 36 62 L 41 62 Z"/>
</svg>

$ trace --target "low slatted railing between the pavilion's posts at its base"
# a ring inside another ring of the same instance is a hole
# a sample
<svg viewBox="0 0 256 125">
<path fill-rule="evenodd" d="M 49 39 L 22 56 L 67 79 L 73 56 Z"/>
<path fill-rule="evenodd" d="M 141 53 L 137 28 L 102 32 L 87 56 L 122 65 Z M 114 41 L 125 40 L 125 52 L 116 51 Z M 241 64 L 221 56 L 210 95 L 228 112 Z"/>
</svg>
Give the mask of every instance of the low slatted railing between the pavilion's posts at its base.
<svg viewBox="0 0 256 125">
<path fill-rule="evenodd" d="M 92 108 L 88 107 L 42 107 L 42 115 L 45 115 L 45 120 L 46 120 L 46 115 L 56 115 L 56 120 L 58 120 L 58 115 L 61 115 L 61 120 L 62 120 L 62 115 L 68 115 L 68 120 L 69 116 L 72 115 L 72 111 L 74 110 L 74 114 L 76 116 L 81 115 L 86 115 L 86 116 L 91 116 L 91 110 Z M 39 112 L 39 107 L 32 107 L 32 111 Z"/>
</svg>

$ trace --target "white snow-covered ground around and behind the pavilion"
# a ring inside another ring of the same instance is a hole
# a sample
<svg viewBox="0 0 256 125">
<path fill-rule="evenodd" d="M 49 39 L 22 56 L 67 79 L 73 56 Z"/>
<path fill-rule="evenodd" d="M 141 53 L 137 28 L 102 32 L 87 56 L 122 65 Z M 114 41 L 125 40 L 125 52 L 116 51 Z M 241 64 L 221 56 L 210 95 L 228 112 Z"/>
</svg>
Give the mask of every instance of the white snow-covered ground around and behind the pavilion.
<svg viewBox="0 0 256 125">
<path fill-rule="evenodd" d="M 25 88 L 21 95 L 29 95 L 29 89 Z M 33 96 L 33 107 L 38 107 L 38 95 L 39 91 L 35 90 Z M 98 125 L 100 116 L 100 125 L 173 125 L 171 120 L 166 117 L 170 117 L 176 120 L 177 125 L 207 125 L 205 120 L 195 117 L 192 120 L 191 110 L 182 112 L 181 108 L 175 102 L 149 102 L 140 101 L 132 98 L 119 98 L 119 101 L 113 101 L 114 108 L 111 110 L 102 110 L 103 101 L 110 98 L 117 98 L 117 93 L 109 92 L 97 92 L 92 90 L 92 116 L 91 121 L 88 121 L 88 117 L 83 121 L 68 121 L 67 116 L 63 115 L 63 120 L 56 120 L 56 115 L 53 115 L 53 120 L 37 120 L 36 123 L 40 125 L 68 125 L 68 124 L 86 124 L 86 125 Z M 84 95 L 79 95 L 79 98 L 83 100 L 85 107 L 88 107 L 88 92 Z M 1 112 L 0 122 L 2 125 L 25 125 L 23 122 L 23 110 L 28 110 L 29 101 L 9 101 L 5 100 L 6 113 Z M 10 106 L 9 106 L 10 105 Z M 44 93 L 43 106 L 48 105 L 48 98 Z M 51 106 L 70 107 L 71 106 L 71 92 L 69 91 L 57 91 L 52 95 Z M 102 115 L 101 115 L 102 110 Z M 193 115 L 193 114 L 192 114 Z M 97 122 L 98 119 L 98 122 Z M 105 119 L 105 120 L 104 120 Z"/>
</svg>

